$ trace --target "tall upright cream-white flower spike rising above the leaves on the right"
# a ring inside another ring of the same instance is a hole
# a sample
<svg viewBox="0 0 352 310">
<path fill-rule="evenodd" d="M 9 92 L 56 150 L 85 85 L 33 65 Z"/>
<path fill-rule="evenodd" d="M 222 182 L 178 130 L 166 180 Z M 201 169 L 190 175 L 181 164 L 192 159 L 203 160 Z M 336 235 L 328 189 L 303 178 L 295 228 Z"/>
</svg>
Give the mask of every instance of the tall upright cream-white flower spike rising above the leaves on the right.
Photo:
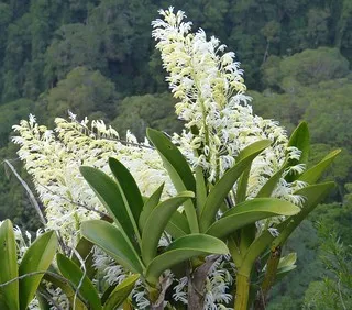
<svg viewBox="0 0 352 310">
<path fill-rule="evenodd" d="M 272 146 L 252 165 L 248 197 L 255 197 L 268 177 L 282 168 L 286 154 L 299 158 L 300 152 L 287 147 L 286 132 L 277 122 L 253 114 L 243 71 L 233 53 L 223 53 L 226 46 L 213 36 L 207 41 L 202 30 L 191 33 L 191 23 L 183 21 L 184 12 L 174 13 L 169 8 L 160 13 L 164 19 L 152 23 L 153 36 L 169 87 L 180 100 L 176 113 L 186 128 L 174 135 L 174 141 L 189 163 L 201 166 L 213 182 L 233 166 L 241 150 L 270 139 Z M 293 195 L 296 189 L 296 184 L 282 180 L 275 196 L 299 204 L 300 199 Z"/>
</svg>

